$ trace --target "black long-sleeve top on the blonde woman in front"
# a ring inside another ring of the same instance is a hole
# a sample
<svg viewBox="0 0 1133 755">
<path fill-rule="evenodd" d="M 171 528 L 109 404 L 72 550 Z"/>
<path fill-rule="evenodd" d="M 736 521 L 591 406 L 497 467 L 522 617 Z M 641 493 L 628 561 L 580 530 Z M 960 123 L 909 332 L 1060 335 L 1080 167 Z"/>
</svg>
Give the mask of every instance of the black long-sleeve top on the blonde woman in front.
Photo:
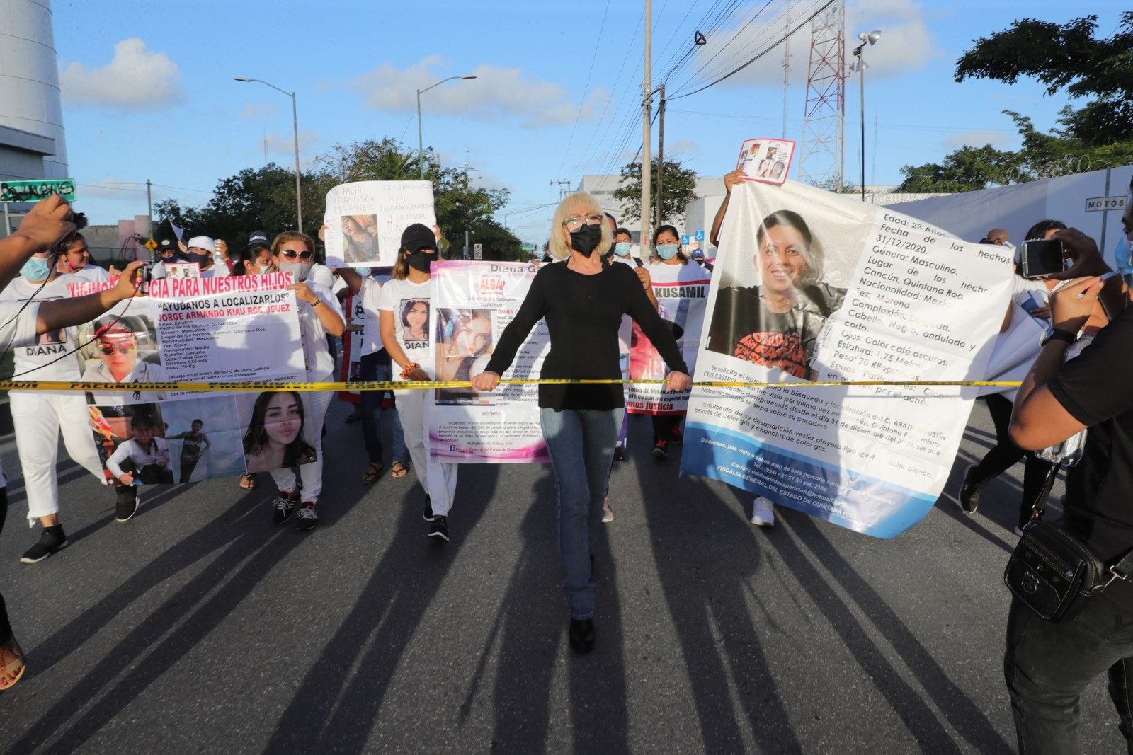
<svg viewBox="0 0 1133 755">
<path fill-rule="evenodd" d="M 543 378 L 620 379 L 617 328 L 622 315 L 637 320 L 671 370 L 688 374 L 676 340 L 649 303 L 641 280 L 629 265 L 603 261 L 600 273 L 583 275 L 565 263 L 544 265 L 531 281 L 516 318 L 504 328 L 485 371 L 503 375 L 527 334 L 540 318 L 551 333 Z M 544 409 L 620 409 L 622 386 L 540 385 Z"/>
</svg>

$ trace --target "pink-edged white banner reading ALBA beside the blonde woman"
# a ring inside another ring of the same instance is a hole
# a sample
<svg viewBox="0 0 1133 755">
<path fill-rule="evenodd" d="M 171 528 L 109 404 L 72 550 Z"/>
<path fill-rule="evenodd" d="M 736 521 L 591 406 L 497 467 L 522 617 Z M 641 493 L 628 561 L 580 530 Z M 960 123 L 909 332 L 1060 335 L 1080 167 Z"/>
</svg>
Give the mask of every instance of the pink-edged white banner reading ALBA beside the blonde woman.
<svg viewBox="0 0 1133 755">
<path fill-rule="evenodd" d="M 519 311 L 538 266 L 443 261 L 433 266 L 429 340 L 437 380 L 468 380 L 484 370 L 495 340 Z M 537 378 L 551 349 L 546 324 L 531 331 L 501 377 Z M 426 406 L 429 458 L 449 463 L 547 462 L 538 386 L 503 384 L 492 393 L 437 388 Z"/>
</svg>

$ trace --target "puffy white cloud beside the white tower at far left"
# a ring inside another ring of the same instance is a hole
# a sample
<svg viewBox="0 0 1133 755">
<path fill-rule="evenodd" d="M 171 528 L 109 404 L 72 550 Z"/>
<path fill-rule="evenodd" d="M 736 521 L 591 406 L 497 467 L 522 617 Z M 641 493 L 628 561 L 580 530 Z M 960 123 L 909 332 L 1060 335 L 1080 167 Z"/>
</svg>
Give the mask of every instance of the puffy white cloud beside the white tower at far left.
<svg viewBox="0 0 1133 755">
<path fill-rule="evenodd" d="M 114 45 L 101 68 L 71 62 L 59 71 L 63 100 L 76 106 L 156 110 L 180 98 L 181 71 L 164 52 L 147 50 L 137 37 Z"/>
</svg>

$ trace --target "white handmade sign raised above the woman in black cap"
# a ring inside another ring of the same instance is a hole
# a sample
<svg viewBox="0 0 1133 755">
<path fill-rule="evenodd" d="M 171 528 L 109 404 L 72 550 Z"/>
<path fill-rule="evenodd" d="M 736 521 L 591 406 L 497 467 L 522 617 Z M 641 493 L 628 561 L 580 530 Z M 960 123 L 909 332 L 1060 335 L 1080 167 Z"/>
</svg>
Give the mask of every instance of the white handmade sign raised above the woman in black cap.
<svg viewBox="0 0 1133 755">
<path fill-rule="evenodd" d="M 357 181 L 326 192 L 326 266 L 393 267 L 401 232 L 436 225 L 432 181 Z"/>
</svg>

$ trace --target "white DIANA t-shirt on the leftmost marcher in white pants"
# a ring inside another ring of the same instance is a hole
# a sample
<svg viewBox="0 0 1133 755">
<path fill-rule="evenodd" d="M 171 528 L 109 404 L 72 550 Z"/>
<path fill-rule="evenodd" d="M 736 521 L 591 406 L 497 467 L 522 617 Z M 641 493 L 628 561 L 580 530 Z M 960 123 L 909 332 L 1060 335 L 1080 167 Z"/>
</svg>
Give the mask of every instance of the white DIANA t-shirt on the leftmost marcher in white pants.
<svg viewBox="0 0 1133 755">
<path fill-rule="evenodd" d="M 35 297 L 34 301 L 69 299 L 70 292 L 67 290 L 67 285 L 82 282 L 78 276 L 68 274 L 60 275 L 56 280 L 42 284 L 41 288 L 40 283 L 32 283 L 27 278 L 18 277 L 9 283 L 8 288 L 0 291 L 0 301 L 23 302 L 28 301 L 33 295 Z M 77 337 L 78 328 L 68 327 L 52 333 L 44 333 L 33 344 L 15 348 L 12 350 L 16 361 L 15 375 L 18 376 L 16 379 L 78 380 Z M 74 395 L 59 391 L 35 393 Z"/>
</svg>

